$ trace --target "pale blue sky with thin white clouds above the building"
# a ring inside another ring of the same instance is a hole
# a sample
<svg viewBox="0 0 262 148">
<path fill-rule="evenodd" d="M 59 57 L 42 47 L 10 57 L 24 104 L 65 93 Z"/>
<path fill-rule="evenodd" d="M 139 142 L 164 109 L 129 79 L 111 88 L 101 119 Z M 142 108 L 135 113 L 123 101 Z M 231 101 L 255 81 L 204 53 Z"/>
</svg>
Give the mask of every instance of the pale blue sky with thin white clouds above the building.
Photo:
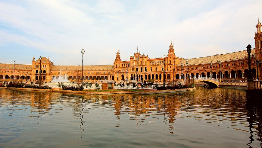
<svg viewBox="0 0 262 148">
<path fill-rule="evenodd" d="M 113 65 L 137 51 L 184 59 L 254 48 L 261 0 L 0 0 L 0 63 Z"/>
</svg>

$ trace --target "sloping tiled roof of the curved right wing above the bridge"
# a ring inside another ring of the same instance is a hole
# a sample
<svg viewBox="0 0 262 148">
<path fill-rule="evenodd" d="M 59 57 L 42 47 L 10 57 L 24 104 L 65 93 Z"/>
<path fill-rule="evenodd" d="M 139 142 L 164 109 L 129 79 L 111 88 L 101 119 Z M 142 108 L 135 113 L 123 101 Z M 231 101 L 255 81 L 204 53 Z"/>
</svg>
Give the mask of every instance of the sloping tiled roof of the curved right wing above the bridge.
<svg viewBox="0 0 262 148">
<path fill-rule="evenodd" d="M 255 56 L 255 49 L 251 50 L 250 56 L 251 57 Z M 221 62 L 225 62 L 225 61 L 239 60 L 239 59 L 245 59 L 245 58 L 248 58 L 248 53 L 246 50 L 243 50 L 243 51 L 219 54 L 219 55 L 214 55 L 214 56 L 185 59 L 185 60 L 181 60 L 176 66 L 181 66 L 181 62 L 183 63 L 183 66 L 186 66 L 186 60 L 188 60 L 188 66 L 189 66 L 189 65 L 206 64 L 206 63 L 217 63 L 219 62 L 219 60 Z"/>
</svg>

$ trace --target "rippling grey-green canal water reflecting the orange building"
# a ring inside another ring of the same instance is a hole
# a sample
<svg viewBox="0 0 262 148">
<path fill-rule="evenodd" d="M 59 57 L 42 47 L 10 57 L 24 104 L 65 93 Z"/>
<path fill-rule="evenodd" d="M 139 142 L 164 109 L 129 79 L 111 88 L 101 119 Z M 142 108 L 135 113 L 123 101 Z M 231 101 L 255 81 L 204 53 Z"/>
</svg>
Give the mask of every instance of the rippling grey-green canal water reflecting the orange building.
<svg viewBox="0 0 262 148">
<path fill-rule="evenodd" d="M 261 147 L 237 89 L 76 95 L 0 88 L 0 147 Z"/>
</svg>

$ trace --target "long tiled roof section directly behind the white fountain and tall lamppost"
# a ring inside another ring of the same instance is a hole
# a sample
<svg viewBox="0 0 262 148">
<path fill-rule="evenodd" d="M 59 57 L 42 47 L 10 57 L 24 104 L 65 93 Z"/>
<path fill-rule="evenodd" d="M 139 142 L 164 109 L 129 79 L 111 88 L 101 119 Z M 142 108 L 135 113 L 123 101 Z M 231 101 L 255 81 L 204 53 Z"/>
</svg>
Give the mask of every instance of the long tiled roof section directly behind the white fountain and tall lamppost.
<svg viewBox="0 0 262 148">
<path fill-rule="evenodd" d="M 106 71 L 106 70 L 113 70 L 113 65 L 91 65 L 91 66 L 83 66 L 85 71 Z M 52 66 L 51 71 L 74 71 L 75 69 L 82 70 L 81 66 Z"/>
</svg>

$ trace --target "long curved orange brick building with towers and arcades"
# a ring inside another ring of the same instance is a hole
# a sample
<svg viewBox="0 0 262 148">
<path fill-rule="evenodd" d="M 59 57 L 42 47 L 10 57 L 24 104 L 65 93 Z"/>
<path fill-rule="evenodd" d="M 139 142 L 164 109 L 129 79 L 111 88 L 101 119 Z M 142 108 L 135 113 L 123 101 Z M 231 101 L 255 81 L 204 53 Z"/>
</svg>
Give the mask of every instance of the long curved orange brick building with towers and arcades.
<svg viewBox="0 0 262 148">
<path fill-rule="evenodd" d="M 255 33 L 255 48 L 251 49 L 252 78 L 261 78 L 262 63 L 262 34 L 261 23 L 258 20 Z M 51 82 L 64 76 L 70 82 L 83 79 L 84 82 L 99 83 L 104 80 L 117 82 L 147 82 L 172 83 L 186 78 L 214 78 L 223 82 L 245 81 L 248 77 L 248 53 L 246 50 L 217 54 L 213 56 L 183 59 L 175 54 L 172 41 L 167 54 L 162 58 L 149 58 L 137 51 L 130 56 L 130 60 L 122 61 L 117 50 L 113 65 L 56 66 L 49 57 L 41 56 L 32 64 L 0 63 L 0 81 L 34 81 L 42 79 Z"/>
</svg>

